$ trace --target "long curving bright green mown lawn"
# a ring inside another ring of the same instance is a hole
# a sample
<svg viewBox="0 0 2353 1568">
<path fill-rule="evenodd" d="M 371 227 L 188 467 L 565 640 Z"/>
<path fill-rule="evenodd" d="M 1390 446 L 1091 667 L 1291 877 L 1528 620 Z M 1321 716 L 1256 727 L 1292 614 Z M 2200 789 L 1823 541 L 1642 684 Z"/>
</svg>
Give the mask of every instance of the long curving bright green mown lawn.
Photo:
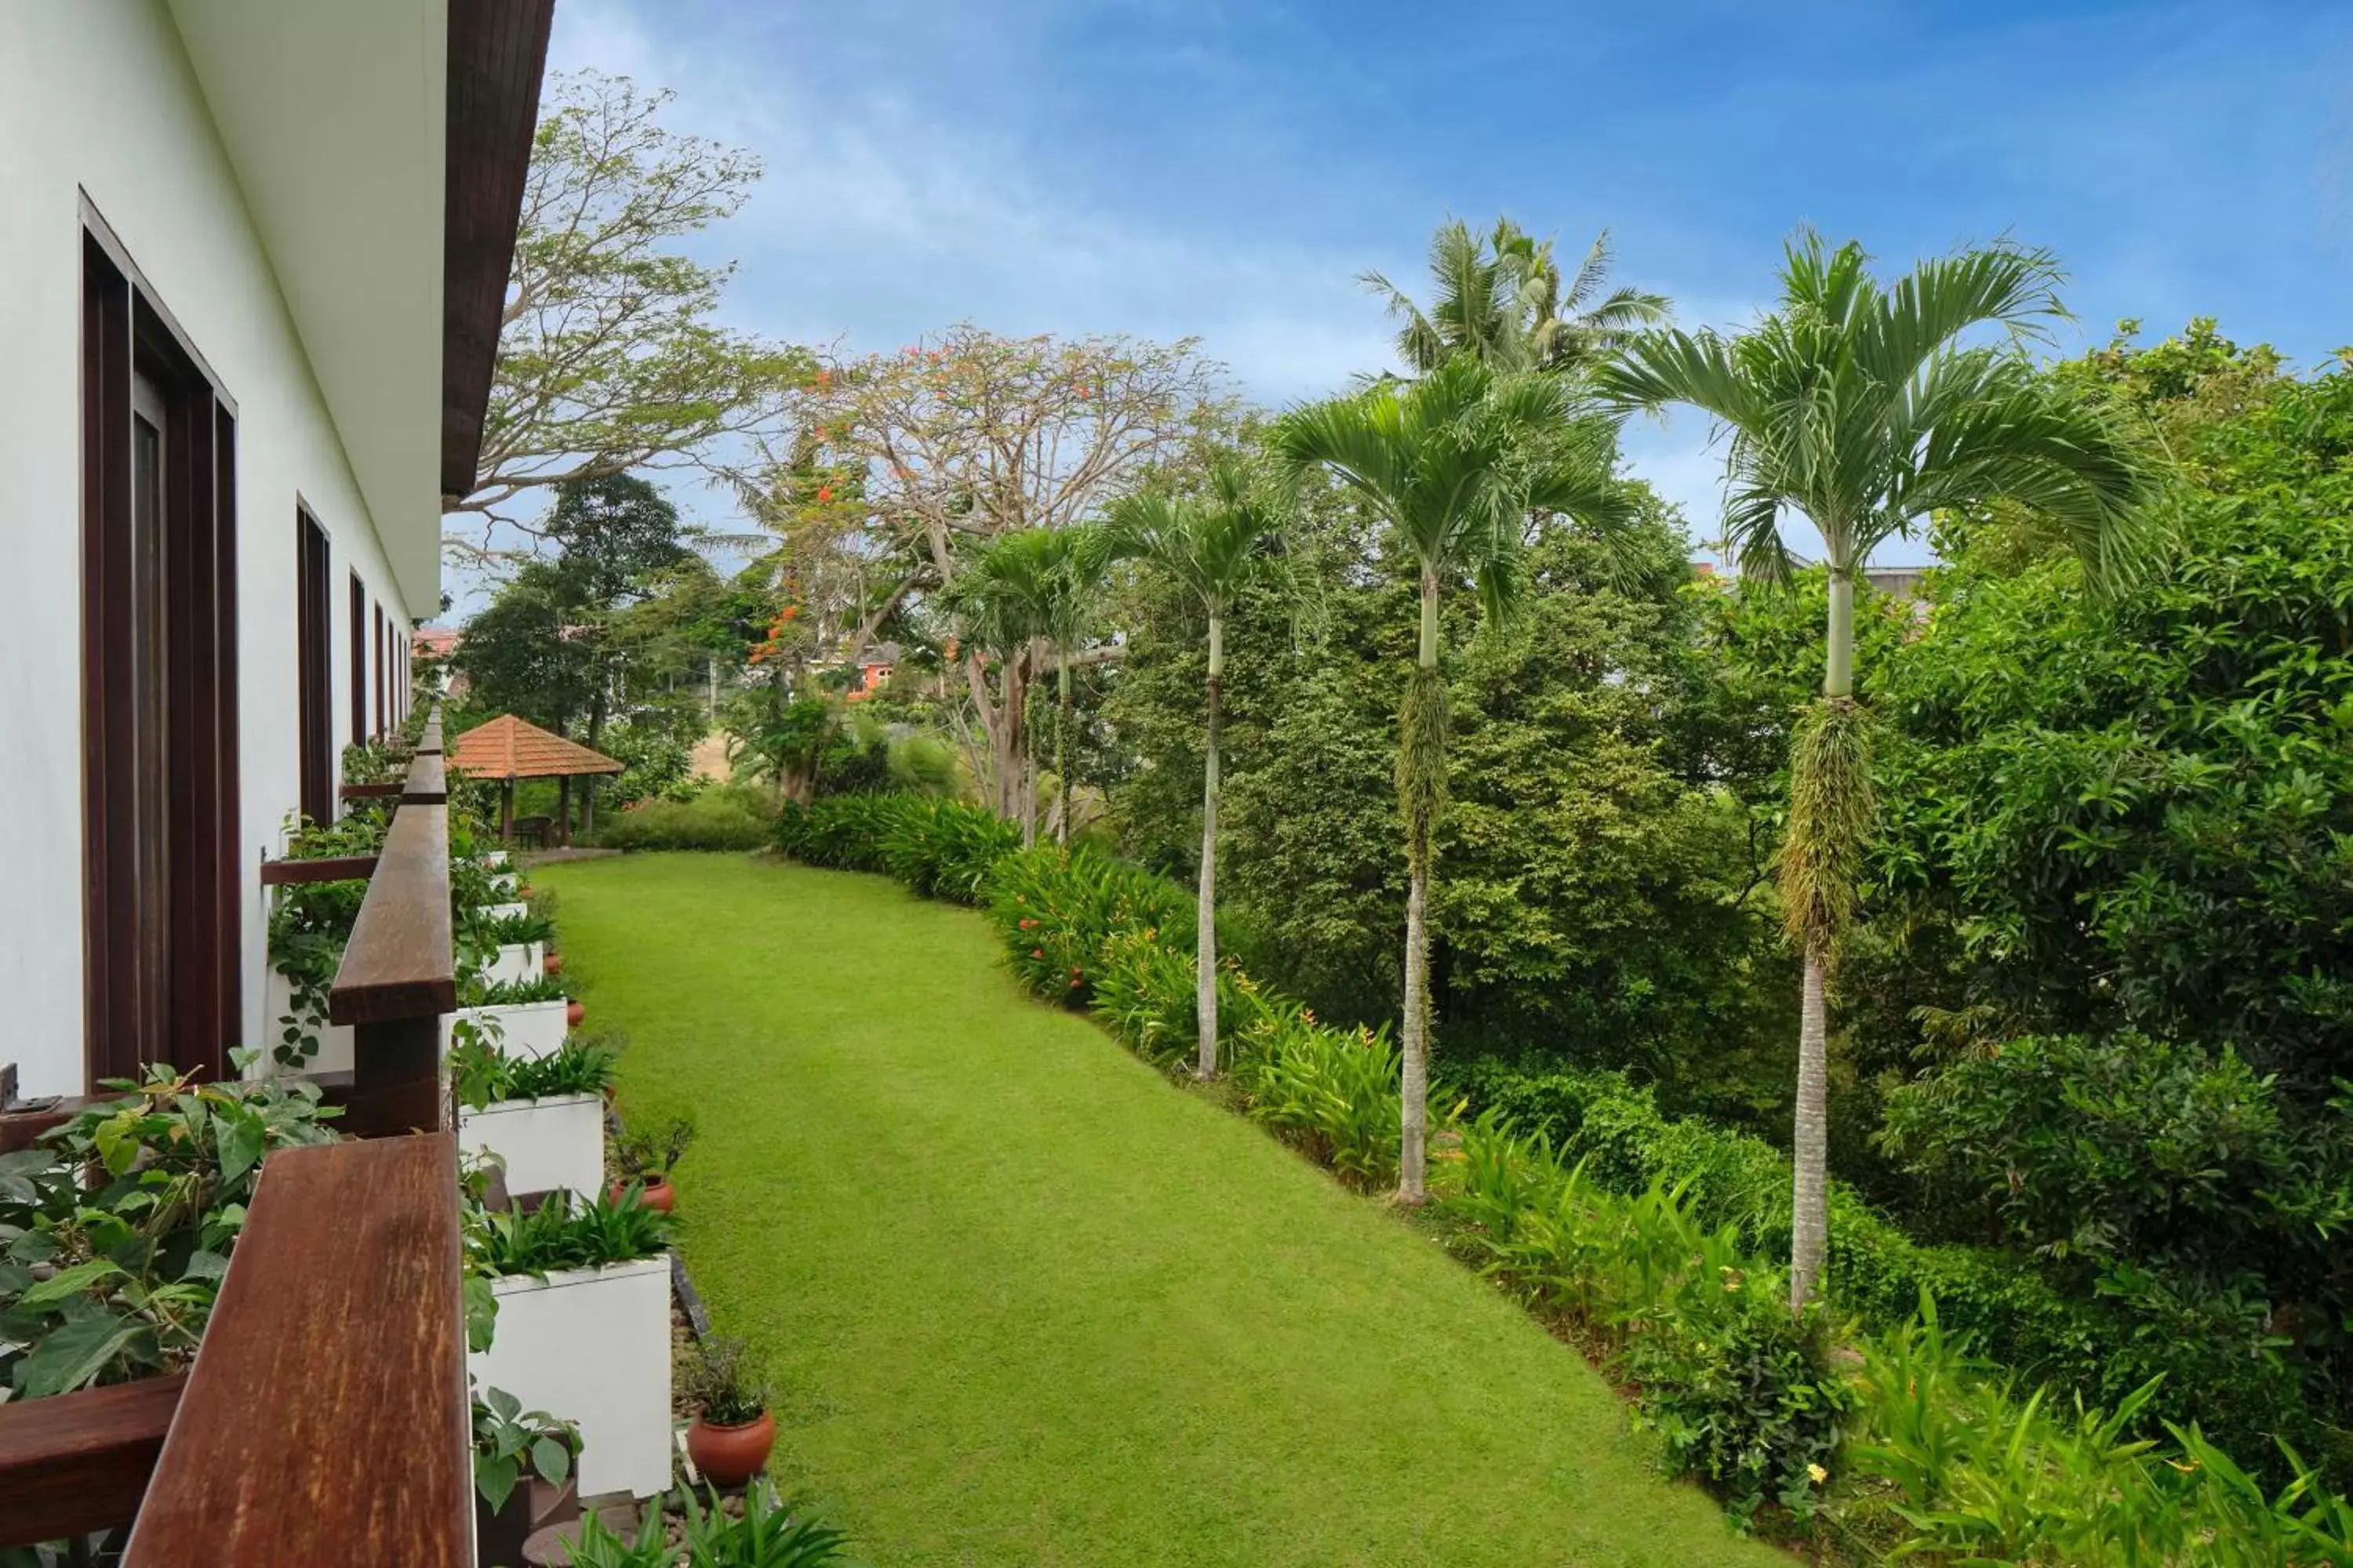
<svg viewBox="0 0 2353 1568">
<path fill-rule="evenodd" d="M 868 1561 L 1788 1561 L 1419 1232 L 1028 1001 L 981 917 L 734 856 L 532 879 L 624 1112 L 701 1124 L 694 1284 Z"/>
</svg>

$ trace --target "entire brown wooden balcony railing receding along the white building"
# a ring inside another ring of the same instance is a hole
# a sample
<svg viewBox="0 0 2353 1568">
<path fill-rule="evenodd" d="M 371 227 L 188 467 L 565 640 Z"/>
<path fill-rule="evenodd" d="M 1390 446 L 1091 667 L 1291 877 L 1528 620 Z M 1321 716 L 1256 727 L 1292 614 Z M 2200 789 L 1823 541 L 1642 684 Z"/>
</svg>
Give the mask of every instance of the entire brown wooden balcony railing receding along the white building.
<svg viewBox="0 0 2353 1568">
<path fill-rule="evenodd" d="M 141 1568 L 473 1561 L 445 802 L 435 712 L 369 872 L 308 863 L 367 875 L 329 990 L 355 1067 L 322 1081 L 362 1143 L 268 1157 L 184 1378 L 0 1403 L 0 1547 L 136 1519 Z M 0 1150 L 78 1107 L 0 1117 Z"/>
</svg>

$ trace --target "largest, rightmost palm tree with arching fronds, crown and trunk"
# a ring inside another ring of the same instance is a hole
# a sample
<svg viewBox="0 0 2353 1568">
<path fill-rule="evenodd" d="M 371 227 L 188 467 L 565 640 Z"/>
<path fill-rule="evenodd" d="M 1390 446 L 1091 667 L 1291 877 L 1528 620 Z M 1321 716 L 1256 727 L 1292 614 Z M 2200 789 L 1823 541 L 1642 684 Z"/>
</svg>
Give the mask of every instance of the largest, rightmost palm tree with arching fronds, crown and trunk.
<svg viewBox="0 0 2353 1568">
<path fill-rule="evenodd" d="M 2064 315 L 2059 268 L 2014 244 L 1922 261 L 1880 287 L 1854 242 L 1786 247 L 1781 306 L 1739 336 L 1659 331 L 1602 371 L 1626 404 L 1687 402 L 1729 433 L 1725 543 L 1741 576 L 1784 581 L 1784 510 L 1821 531 L 1831 616 L 1821 701 L 1791 752 L 1781 900 L 1805 954 L 1798 1030 L 1791 1307 L 1828 1253 L 1824 983 L 1854 912 L 1873 816 L 1871 738 L 1854 703 L 1854 578 L 1871 550 L 1939 508 L 2007 498 L 2049 517 L 2094 583 L 2148 557 L 2148 468 L 2097 409 L 2054 390 L 2026 343 Z M 1995 329 L 1993 341 L 1969 343 Z"/>
</svg>

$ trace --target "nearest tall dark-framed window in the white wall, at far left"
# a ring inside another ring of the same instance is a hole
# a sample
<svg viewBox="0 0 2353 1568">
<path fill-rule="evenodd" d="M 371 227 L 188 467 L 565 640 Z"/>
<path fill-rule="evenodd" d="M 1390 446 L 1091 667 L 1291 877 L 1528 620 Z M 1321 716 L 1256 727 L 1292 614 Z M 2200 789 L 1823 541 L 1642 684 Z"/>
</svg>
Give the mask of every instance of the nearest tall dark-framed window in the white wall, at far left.
<svg viewBox="0 0 2353 1568">
<path fill-rule="evenodd" d="M 87 1072 L 219 1077 L 238 1039 L 235 414 L 127 261 L 82 244 Z"/>
</svg>

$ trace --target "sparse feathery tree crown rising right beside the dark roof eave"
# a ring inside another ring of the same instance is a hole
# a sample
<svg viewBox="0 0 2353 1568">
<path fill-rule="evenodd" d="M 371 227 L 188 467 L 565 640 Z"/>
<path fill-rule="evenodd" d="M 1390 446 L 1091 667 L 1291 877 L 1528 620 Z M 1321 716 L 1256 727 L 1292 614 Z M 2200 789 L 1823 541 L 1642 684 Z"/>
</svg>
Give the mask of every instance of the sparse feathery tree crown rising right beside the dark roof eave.
<svg viewBox="0 0 2353 1568">
<path fill-rule="evenodd" d="M 666 129 L 671 94 L 626 75 L 558 78 L 548 101 L 482 454 L 473 487 L 442 496 L 447 548 L 473 562 L 494 555 L 492 522 L 527 527 L 518 503 L 544 489 L 713 463 L 732 437 L 779 430 L 786 386 L 809 369 L 802 350 L 722 327 L 734 263 L 680 249 L 744 207 L 760 160 Z"/>
</svg>

